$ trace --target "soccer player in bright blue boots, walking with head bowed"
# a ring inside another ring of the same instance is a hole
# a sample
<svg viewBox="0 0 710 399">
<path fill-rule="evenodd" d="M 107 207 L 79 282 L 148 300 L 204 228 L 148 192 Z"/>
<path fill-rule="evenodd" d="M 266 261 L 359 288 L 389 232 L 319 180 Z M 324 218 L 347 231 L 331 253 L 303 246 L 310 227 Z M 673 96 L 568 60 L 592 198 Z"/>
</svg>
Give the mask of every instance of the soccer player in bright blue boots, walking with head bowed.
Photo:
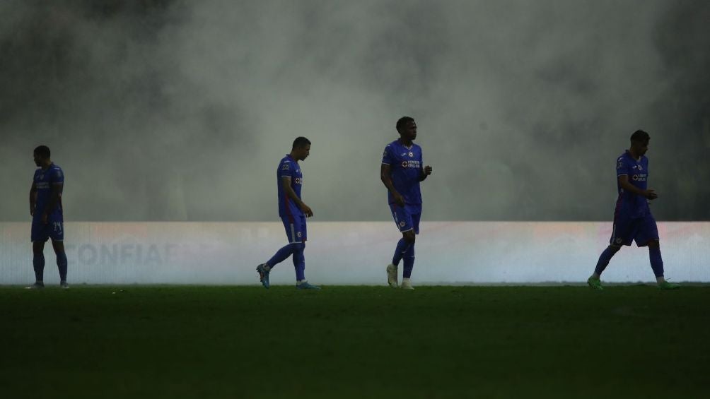
<svg viewBox="0 0 710 399">
<path fill-rule="evenodd" d="M 279 249 L 266 263 L 256 266 L 259 280 L 264 288 L 269 288 L 268 275 L 274 266 L 293 255 L 293 266 L 296 269 L 296 288 L 316 289 L 305 278 L 306 262 L 303 256 L 306 234 L 306 218 L 313 215 L 313 210 L 301 201 L 301 187 L 303 186 L 303 173 L 298 161 L 302 161 L 310 154 L 310 140 L 306 137 L 296 137 L 293 140 L 291 153 L 287 154 L 276 169 L 278 181 L 278 215 L 283 220 L 286 228 L 288 245 Z"/>
</svg>

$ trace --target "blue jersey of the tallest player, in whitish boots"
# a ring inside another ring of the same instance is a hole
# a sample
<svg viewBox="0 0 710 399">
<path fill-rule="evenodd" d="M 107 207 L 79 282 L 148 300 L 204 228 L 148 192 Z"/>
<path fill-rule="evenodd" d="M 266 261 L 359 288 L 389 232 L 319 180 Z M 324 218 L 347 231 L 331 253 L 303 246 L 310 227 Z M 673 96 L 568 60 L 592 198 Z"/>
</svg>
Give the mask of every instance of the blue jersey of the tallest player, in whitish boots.
<svg viewBox="0 0 710 399">
<path fill-rule="evenodd" d="M 405 203 L 422 203 L 422 193 L 419 181 L 422 177 L 422 147 L 412 143 L 412 147 L 400 144 L 399 140 L 385 147 L 382 163 L 390 165 L 392 184 L 395 190 L 404 197 Z M 392 193 L 387 192 L 389 203 L 394 203 Z"/>
</svg>

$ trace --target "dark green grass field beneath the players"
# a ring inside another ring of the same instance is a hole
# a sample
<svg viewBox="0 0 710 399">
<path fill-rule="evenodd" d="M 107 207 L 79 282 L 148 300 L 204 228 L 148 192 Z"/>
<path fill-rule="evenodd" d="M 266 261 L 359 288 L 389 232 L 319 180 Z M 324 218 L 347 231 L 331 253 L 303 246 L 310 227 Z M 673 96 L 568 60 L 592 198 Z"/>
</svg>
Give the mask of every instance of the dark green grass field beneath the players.
<svg viewBox="0 0 710 399">
<path fill-rule="evenodd" d="M 1 398 L 701 398 L 710 286 L 0 287 Z"/>
</svg>

